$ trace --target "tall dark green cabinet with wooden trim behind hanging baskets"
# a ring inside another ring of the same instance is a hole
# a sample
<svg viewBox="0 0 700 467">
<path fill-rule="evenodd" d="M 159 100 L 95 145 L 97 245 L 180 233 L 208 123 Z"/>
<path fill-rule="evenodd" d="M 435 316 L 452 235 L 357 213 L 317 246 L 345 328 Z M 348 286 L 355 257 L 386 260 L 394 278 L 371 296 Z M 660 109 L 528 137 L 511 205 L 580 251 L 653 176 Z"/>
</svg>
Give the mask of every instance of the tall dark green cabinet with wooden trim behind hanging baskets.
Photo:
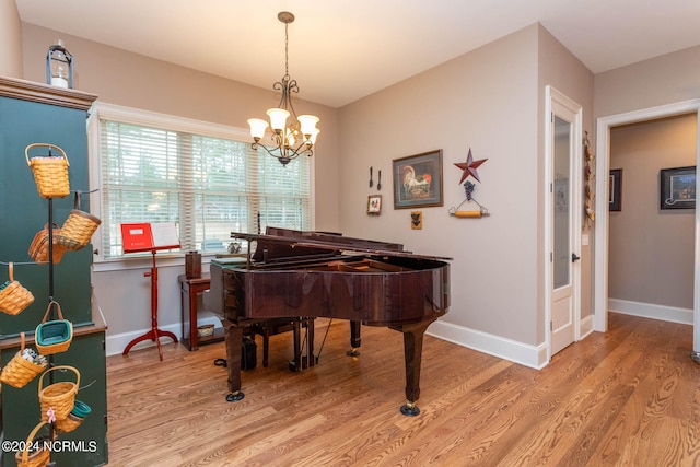
<svg viewBox="0 0 700 467">
<path fill-rule="evenodd" d="M 77 400 L 91 413 L 80 427 L 59 435 L 66 442 L 51 455 L 60 466 L 98 466 L 107 463 L 106 325 L 94 305 L 91 288 L 92 245 L 67 252 L 52 266 L 31 264 L 28 247 L 36 232 L 49 218 L 61 225 L 73 208 L 72 194 L 66 198 L 39 197 L 27 166 L 25 148 L 32 143 L 60 147 L 68 155 L 71 190 L 89 190 L 88 113 L 96 96 L 74 90 L 0 77 L 0 283 L 8 280 L 7 262 L 13 261 L 14 279 L 31 290 L 35 302 L 15 316 L 0 313 L 0 364 L 19 350 L 19 334 L 33 334 L 47 310 L 50 296 L 60 303 L 63 317 L 73 324 L 70 348 L 51 357 L 54 365 L 70 365 L 80 372 Z M 46 155 L 38 149 L 32 155 Z M 81 209 L 90 210 L 83 196 Z M 52 295 L 49 277 L 52 276 Z M 55 372 L 51 372 L 55 373 Z M 40 375 L 22 388 L 2 385 L 0 389 L 0 436 L 23 441 L 40 421 L 38 382 Z M 50 378 L 45 378 L 45 386 Z M 70 443 L 74 441 L 74 443 Z M 7 443 L 5 443 L 7 444 Z M 3 452 L 5 466 L 14 466 L 14 453 Z"/>
</svg>

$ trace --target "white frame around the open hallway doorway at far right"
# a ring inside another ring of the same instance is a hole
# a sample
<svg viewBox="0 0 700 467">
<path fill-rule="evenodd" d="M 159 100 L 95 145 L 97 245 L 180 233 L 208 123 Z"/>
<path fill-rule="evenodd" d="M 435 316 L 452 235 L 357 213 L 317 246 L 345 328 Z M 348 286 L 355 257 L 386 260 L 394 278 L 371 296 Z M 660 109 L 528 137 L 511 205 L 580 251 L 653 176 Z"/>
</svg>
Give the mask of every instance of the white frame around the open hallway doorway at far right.
<svg viewBox="0 0 700 467">
<path fill-rule="evenodd" d="M 610 166 L 610 128 L 618 125 L 634 124 L 681 114 L 698 115 L 698 141 L 696 145 L 696 166 L 700 166 L 700 100 L 661 105 L 623 114 L 599 117 L 596 125 L 596 225 L 594 244 L 594 315 L 593 328 L 605 332 L 608 329 L 608 173 Z M 696 177 L 696 192 L 699 192 L 700 179 Z M 696 209 L 695 222 L 695 287 L 693 287 L 693 351 L 700 351 L 700 209 Z"/>
</svg>

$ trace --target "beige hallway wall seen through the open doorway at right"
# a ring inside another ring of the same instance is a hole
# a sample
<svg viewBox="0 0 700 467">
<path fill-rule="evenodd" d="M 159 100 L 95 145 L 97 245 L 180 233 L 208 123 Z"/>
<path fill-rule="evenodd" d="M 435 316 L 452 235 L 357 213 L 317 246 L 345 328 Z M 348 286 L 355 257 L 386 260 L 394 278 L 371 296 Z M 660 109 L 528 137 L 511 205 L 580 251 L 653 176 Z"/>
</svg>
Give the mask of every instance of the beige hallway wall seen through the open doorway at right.
<svg viewBox="0 0 700 467">
<path fill-rule="evenodd" d="M 609 217 L 608 296 L 692 308 L 695 210 L 661 210 L 658 171 L 696 165 L 697 115 L 614 128 L 622 210 Z"/>
</svg>

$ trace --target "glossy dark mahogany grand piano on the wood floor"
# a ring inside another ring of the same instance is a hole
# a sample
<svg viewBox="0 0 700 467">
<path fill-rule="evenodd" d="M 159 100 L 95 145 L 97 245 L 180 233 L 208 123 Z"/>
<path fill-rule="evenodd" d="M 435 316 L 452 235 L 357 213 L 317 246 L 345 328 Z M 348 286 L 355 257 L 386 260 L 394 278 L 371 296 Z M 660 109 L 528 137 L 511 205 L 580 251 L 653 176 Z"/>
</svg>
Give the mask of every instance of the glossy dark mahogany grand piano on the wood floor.
<svg viewBox="0 0 700 467">
<path fill-rule="evenodd" d="M 265 234 L 231 236 L 248 242 L 247 259 L 233 267 L 212 262 L 207 303 L 224 316 L 226 400 L 244 397 L 244 327 L 280 317 L 328 317 L 350 320 L 349 354 L 360 347 L 360 324 L 404 334 L 406 404 L 400 410 L 406 416 L 420 413 L 416 402 L 423 335 L 447 312 L 451 258 L 413 255 L 400 244 L 334 233 L 268 227 Z"/>
</svg>

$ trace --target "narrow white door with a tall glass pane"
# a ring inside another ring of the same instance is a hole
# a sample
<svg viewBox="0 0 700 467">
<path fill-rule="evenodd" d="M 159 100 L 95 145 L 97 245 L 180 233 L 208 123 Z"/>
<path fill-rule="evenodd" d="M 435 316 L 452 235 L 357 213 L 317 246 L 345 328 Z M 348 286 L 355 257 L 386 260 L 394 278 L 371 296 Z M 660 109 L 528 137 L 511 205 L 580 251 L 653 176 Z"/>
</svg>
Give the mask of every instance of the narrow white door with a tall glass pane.
<svg viewBox="0 0 700 467">
<path fill-rule="evenodd" d="M 581 297 L 581 107 L 550 89 L 549 342 L 550 355 L 579 338 Z"/>
</svg>

